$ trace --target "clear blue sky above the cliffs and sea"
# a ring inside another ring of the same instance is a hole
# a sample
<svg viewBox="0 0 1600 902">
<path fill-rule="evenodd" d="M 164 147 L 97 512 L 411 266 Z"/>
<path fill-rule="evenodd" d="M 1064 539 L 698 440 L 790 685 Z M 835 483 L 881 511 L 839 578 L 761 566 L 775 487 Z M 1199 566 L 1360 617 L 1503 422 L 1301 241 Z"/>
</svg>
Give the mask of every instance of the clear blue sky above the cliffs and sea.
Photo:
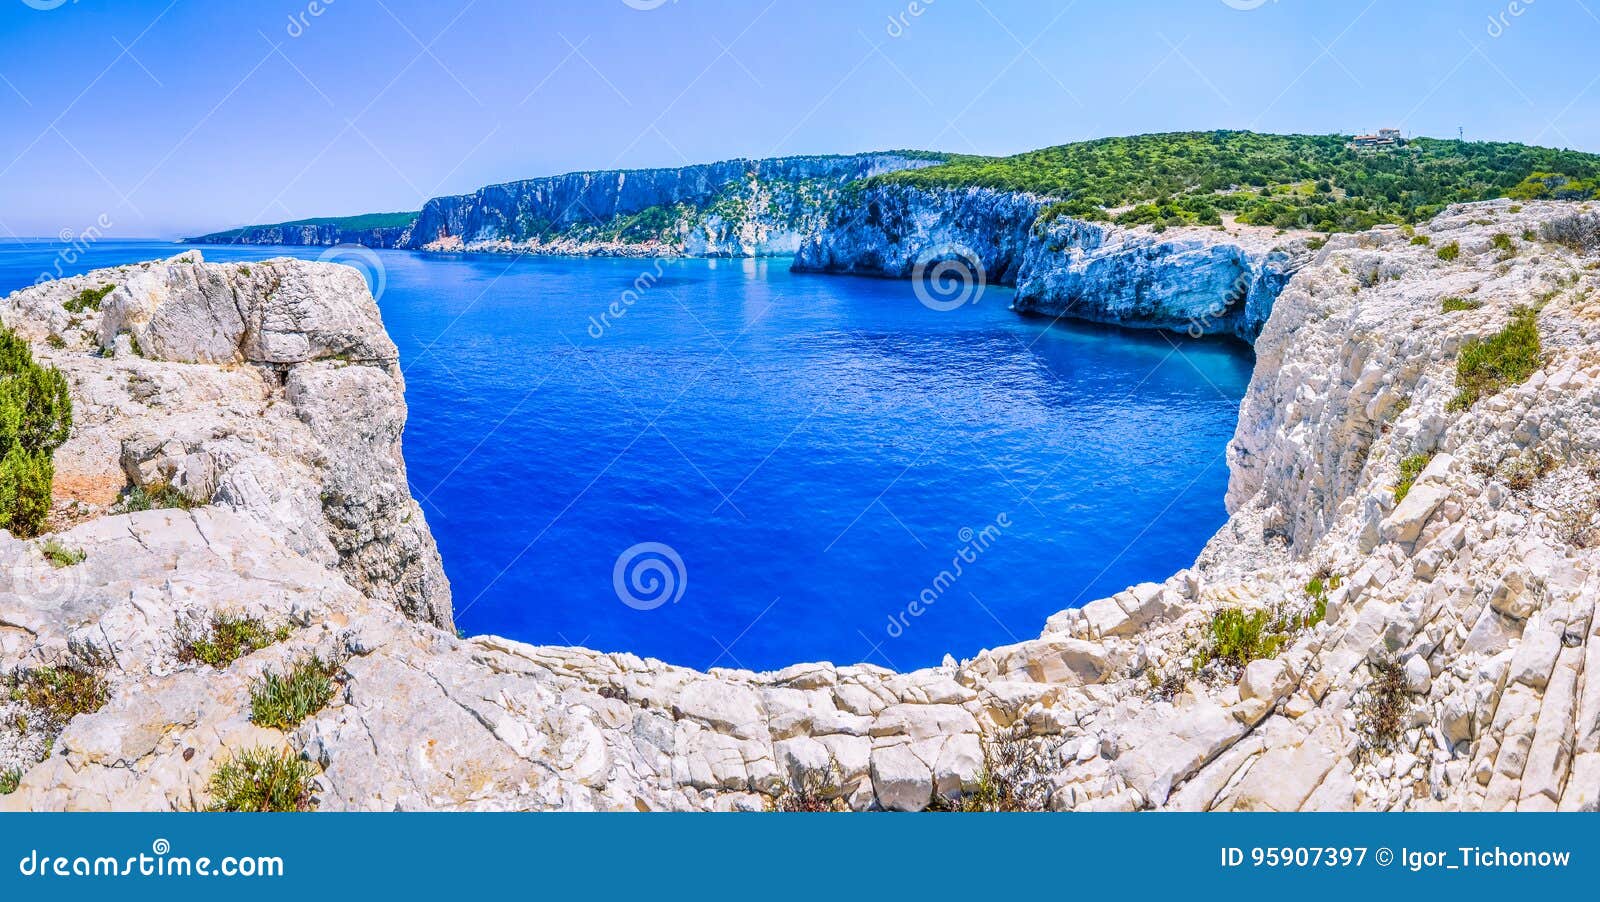
<svg viewBox="0 0 1600 902">
<path fill-rule="evenodd" d="M 0 0 L 0 238 L 1190 128 L 1600 150 L 1597 46 L 1600 0 Z"/>
</svg>

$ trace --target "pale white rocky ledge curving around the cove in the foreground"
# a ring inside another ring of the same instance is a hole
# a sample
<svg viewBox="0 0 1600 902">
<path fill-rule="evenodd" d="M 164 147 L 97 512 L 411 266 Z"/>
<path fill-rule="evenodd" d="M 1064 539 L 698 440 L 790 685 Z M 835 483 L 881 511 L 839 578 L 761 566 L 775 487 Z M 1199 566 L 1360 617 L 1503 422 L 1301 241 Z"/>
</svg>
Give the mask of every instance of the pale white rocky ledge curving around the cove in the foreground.
<svg viewBox="0 0 1600 902">
<path fill-rule="evenodd" d="M 923 809 L 997 787 L 1053 809 L 1595 809 L 1600 257 L 1547 240 L 1581 216 L 1490 202 L 1330 238 L 1256 341 L 1232 515 L 1198 561 L 912 673 L 701 673 L 440 629 L 392 345 L 354 273 L 179 257 L 13 294 L 6 325 L 72 379 L 67 486 L 203 504 L 85 497 L 56 539 L 86 557 L 59 568 L 0 541 L 0 665 L 106 680 L 64 724 L 0 712 L 0 768 L 22 768 L 0 804 L 205 806 L 267 745 L 314 764 L 323 809 Z M 101 312 L 64 310 L 104 283 Z M 1531 376 L 1458 373 L 1528 323 Z M 181 661 L 216 613 L 278 632 Z M 309 653 L 331 700 L 251 723 L 251 680 Z"/>
</svg>

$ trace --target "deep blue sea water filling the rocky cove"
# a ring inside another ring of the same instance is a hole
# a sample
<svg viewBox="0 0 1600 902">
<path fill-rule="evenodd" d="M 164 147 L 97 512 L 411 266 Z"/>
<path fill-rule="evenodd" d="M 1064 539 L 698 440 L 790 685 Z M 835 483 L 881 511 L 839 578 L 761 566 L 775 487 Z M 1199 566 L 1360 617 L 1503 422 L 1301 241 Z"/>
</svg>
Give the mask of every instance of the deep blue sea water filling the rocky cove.
<svg viewBox="0 0 1600 902">
<path fill-rule="evenodd" d="M 0 291 L 59 251 L 0 245 Z M 931 310 L 787 261 L 346 259 L 400 345 L 411 489 L 469 633 L 920 667 L 1163 579 L 1224 520 L 1232 341 L 1027 320 L 1000 288 Z"/>
</svg>

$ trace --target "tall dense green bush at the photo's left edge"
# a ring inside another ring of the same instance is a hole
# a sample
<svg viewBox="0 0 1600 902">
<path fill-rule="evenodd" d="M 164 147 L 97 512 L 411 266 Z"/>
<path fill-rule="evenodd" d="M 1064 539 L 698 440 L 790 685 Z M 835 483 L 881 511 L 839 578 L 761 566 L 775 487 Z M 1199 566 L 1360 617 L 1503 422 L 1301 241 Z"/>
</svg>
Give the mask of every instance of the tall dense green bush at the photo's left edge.
<svg viewBox="0 0 1600 902">
<path fill-rule="evenodd" d="M 0 529 L 43 531 L 56 477 L 50 456 L 70 432 L 66 377 L 38 366 L 27 342 L 0 326 Z"/>
</svg>

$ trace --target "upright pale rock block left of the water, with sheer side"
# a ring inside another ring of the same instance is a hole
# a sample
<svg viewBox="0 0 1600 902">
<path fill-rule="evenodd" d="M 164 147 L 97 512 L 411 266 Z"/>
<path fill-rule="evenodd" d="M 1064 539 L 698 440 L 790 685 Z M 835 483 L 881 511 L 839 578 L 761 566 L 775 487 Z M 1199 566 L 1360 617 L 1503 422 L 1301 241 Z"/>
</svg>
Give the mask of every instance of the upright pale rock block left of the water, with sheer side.
<svg viewBox="0 0 1600 902">
<path fill-rule="evenodd" d="M 99 309 L 86 288 L 114 286 Z M 69 309 L 77 307 L 77 309 Z M 157 264 L 48 281 L 5 321 L 72 384 L 62 523 L 126 488 L 248 515 L 376 598 L 451 625 L 400 456 L 405 382 L 360 273 L 290 259 Z"/>
</svg>

